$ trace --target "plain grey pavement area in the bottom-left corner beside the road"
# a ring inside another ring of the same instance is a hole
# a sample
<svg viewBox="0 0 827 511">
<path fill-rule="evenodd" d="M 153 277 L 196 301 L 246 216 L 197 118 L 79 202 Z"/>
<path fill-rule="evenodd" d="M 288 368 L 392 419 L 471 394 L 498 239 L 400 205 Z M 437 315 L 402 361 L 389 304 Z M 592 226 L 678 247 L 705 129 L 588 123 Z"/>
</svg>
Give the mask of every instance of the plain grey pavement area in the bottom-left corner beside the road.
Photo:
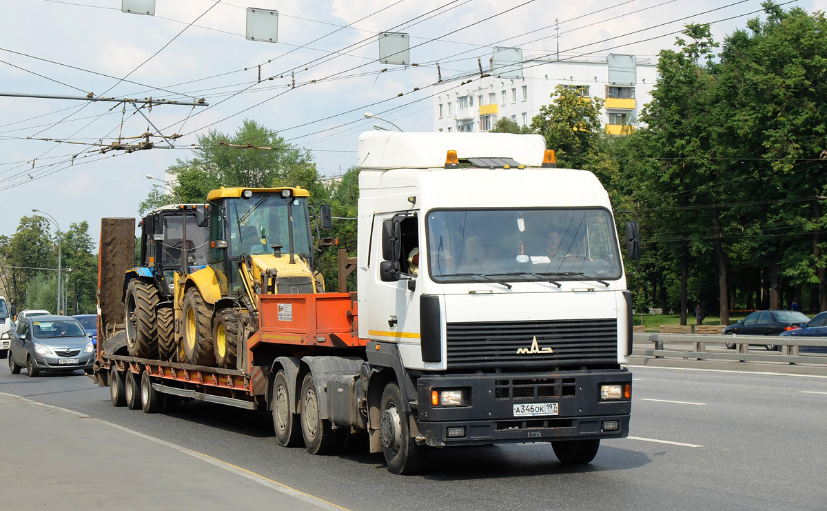
<svg viewBox="0 0 827 511">
<path fill-rule="evenodd" d="M 0 394 L 3 509 L 343 508 L 184 447 Z"/>
</svg>

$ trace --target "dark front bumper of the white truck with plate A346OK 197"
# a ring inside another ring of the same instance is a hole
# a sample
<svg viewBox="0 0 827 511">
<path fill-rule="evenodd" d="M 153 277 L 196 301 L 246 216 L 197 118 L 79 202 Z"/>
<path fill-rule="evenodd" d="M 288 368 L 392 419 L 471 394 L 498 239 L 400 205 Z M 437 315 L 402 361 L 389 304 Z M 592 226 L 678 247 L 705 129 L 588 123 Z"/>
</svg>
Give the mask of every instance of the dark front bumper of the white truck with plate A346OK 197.
<svg viewBox="0 0 827 511">
<path fill-rule="evenodd" d="M 631 389 L 632 373 L 423 375 L 417 380 L 419 435 L 433 447 L 627 437 L 631 399 L 601 400 L 602 384 Z M 460 389 L 463 404 L 434 406 L 432 391 L 446 389 Z M 523 406 L 545 404 L 557 404 L 556 414 L 548 411 L 553 407 Z M 537 408 L 543 411 L 523 415 Z"/>
</svg>

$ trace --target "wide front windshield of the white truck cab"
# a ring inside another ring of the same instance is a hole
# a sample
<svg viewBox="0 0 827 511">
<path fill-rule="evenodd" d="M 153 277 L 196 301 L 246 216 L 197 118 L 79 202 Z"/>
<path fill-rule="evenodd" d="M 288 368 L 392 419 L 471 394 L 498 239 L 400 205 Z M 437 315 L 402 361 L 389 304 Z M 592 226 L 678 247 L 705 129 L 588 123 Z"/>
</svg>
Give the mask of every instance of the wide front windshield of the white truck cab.
<svg viewBox="0 0 827 511">
<path fill-rule="evenodd" d="M 426 229 L 437 282 L 622 275 L 614 221 L 602 208 L 433 210 Z"/>
</svg>

